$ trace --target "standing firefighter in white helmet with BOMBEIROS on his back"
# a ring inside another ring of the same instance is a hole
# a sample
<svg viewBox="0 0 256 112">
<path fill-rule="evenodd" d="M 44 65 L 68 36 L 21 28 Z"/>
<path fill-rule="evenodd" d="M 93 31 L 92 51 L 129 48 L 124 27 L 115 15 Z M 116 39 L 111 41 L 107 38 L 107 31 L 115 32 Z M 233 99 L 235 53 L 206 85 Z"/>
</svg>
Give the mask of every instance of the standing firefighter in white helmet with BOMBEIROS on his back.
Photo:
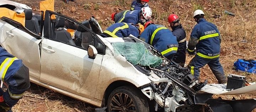
<svg viewBox="0 0 256 112">
<path fill-rule="evenodd" d="M 188 53 L 193 54 L 196 47 L 196 55 L 188 64 L 188 69 L 199 80 L 200 68 L 208 64 L 219 84 L 227 82 L 222 65 L 219 62 L 220 43 L 222 37 L 218 28 L 204 19 L 204 12 L 196 10 L 193 14 L 197 25 L 194 26 L 188 41 Z"/>
</svg>

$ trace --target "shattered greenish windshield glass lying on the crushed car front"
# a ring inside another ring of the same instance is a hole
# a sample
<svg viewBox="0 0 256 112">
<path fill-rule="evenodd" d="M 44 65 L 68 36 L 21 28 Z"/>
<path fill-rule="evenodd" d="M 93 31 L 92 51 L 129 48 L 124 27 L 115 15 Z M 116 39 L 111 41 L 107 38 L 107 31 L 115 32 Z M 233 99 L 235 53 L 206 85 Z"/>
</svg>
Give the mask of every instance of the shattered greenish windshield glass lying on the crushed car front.
<svg viewBox="0 0 256 112">
<path fill-rule="evenodd" d="M 143 43 L 113 42 L 112 45 L 117 54 L 134 65 L 158 67 L 162 64 L 162 59 L 151 54 Z"/>
</svg>

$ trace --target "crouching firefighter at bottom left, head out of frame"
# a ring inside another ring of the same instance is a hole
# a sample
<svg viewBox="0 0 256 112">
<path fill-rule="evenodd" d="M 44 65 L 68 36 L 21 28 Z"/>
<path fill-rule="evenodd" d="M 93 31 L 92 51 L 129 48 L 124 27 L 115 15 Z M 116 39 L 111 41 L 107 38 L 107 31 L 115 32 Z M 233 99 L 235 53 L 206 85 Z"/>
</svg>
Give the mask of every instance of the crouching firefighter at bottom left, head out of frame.
<svg viewBox="0 0 256 112">
<path fill-rule="evenodd" d="M 29 71 L 22 60 L 0 47 L 1 81 L 8 85 L 7 91 L 0 89 L 0 112 L 11 111 L 24 92 L 30 87 Z"/>
</svg>

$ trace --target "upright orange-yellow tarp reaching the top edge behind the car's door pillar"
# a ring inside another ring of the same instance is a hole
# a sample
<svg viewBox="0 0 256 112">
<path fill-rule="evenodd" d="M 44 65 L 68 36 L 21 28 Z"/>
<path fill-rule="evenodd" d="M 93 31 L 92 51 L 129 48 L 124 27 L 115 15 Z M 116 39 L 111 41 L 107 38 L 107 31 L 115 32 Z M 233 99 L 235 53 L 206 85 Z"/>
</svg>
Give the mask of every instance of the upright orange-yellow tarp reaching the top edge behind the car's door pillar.
<svg viewBox="0 0 256 112">
<path fill-rule="evenodd" d="M 44 14 L 45 14 L 46 10 L 54 11 L 54 0 L 40 1 L 40 11 L 44 11 Z M 43 19 L 44 19 L 44 15 L 43 15 Z M 55 15 L 52 15 L 51 19 L 52 20 L 56 19 Z"/>
</svg>

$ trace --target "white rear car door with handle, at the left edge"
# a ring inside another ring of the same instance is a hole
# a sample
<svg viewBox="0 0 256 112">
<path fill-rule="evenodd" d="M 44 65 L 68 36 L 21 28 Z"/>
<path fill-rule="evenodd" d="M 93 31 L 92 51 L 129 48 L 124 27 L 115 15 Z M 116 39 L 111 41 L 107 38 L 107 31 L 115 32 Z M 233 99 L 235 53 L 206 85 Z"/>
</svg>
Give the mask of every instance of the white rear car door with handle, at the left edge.
<svg viewBox="0 0 256 112">
<path fill-rule="evenodd" d="M 2 37 L 4 38 L 1 43 L 9 53 L 22 59 L 30 70 L 30 78 L 40 79 L 40 52 L 39 43 L 41 36 L 32 33 L 23 27 L 20 23 L 15 22 L 9 18 L 3 17 L 0 20 L 4 25 L 2 29 Z"/>
</svg>

